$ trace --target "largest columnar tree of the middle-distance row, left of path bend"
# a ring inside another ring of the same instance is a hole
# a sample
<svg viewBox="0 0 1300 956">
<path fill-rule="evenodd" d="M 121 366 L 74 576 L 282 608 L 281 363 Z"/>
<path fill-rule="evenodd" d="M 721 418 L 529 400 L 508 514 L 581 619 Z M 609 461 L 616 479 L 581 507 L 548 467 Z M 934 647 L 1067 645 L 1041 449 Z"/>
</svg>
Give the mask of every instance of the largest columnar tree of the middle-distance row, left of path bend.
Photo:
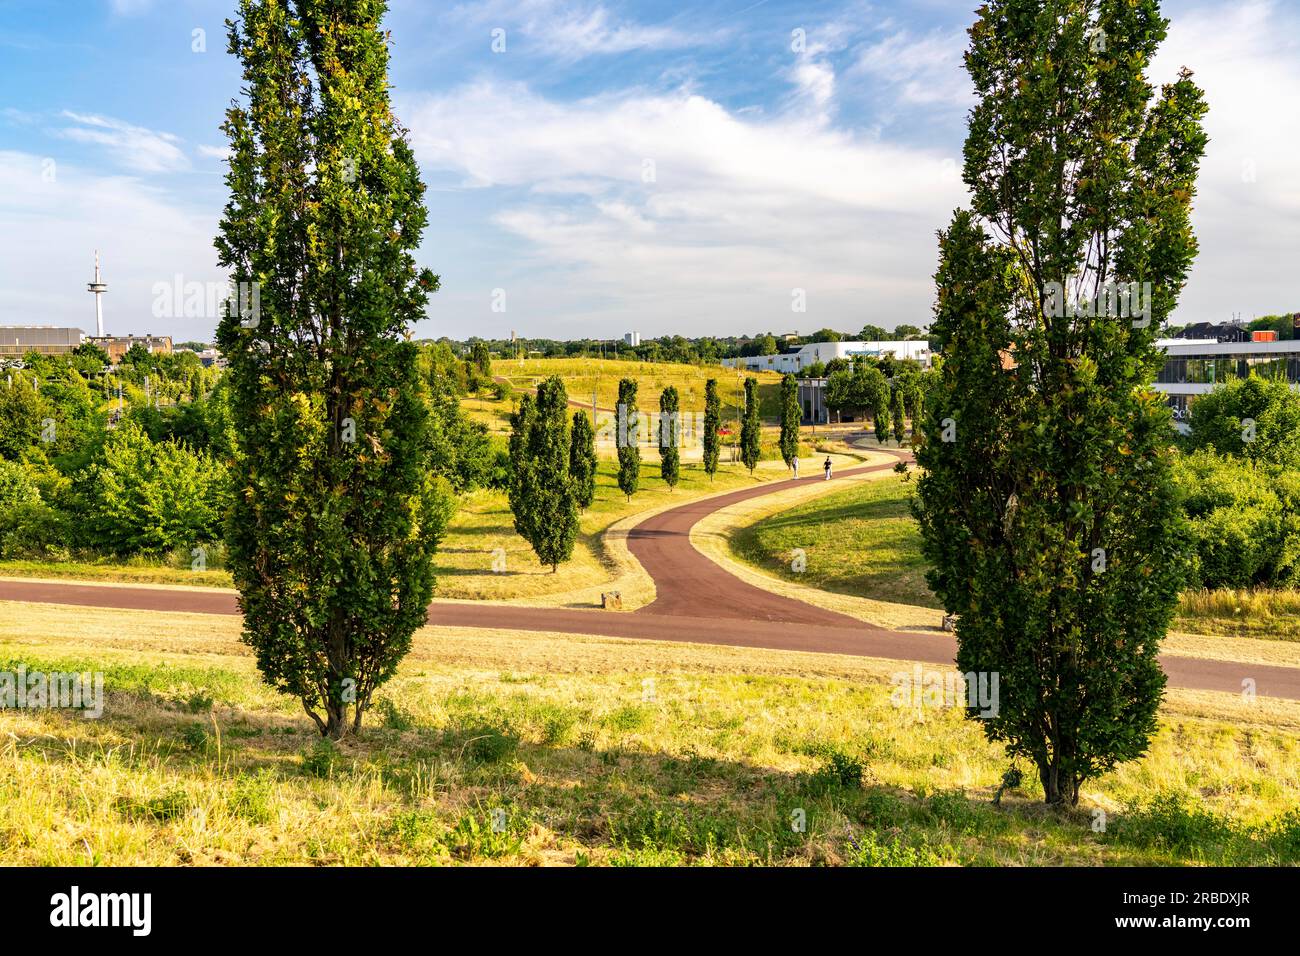
<svg viewBox="0 0 1300 956">
<path fill-rule="evenodd" d="M 577 497 L 569 476 L 568 394 L 559 376 L 537 386 L 536 415 L 528 433 L 529 542 L 538 561 L 559 570 L 573 557 Z"/>
</svg>

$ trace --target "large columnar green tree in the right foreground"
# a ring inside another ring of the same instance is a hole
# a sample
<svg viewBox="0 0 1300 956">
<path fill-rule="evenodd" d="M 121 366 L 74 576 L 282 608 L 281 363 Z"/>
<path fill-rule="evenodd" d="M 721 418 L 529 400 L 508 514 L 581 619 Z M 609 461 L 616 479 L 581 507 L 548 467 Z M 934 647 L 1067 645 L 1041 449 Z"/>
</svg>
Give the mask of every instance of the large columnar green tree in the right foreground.
<svg viewBox="0 0 1300 956">
<path fill-rule="evenodd" d="M 1147 749 L 1165 687 L 1187 548 L 1149 382 L 1196 252 L 1205 104 L 1186 70 L 1147 83 L 1156 0 L 980 9 L 916 516 L 959 670 L 1000 675 L 985 735 L 1075 804 Z"/>
</svg>

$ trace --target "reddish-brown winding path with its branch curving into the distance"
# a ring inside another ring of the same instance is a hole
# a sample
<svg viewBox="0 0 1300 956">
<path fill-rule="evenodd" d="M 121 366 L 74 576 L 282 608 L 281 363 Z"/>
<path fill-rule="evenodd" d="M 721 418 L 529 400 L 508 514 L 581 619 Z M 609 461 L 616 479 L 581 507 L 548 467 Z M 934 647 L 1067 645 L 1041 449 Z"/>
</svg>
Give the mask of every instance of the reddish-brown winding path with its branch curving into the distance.
<svg viewBox="0 0 1300 956">
<path fill-rule="evenodd" d="M 900 453 L 892 454 L 906 457 Z M 849 468 L 836 475 L 832 481 L 892 467 L 893 463 Z M 822 480 L 820 475 L 801 479 L 805 484 Z M 706 515 L 796 484 L 793 480 L 771 481 L 686 502 L 636 525 L 628 535 L 628 549 L 651 576 L 656 591 L 655 601 L 640 610 L 618 613 L 438 601 L 429 607 L 429 623 L 445 627 L 552 631 L 857 654 L 950 665 L 957 654 L 957 643 L 952 635 L 888 631 L 845 614 L 774 594 L 740 580 L 690 544 L 690 528 Z M 0 600 L 131 610 L 239 614 L 237 596 L 230 591 L 133 588 L 10 579 L 0 580 Z M 1161 665 L 1173 687 L 1240 693 L 1243 682 L 1249 679 L 1254 682 L 1256 693 L 1260 696 L 1300 700 L 1300 667 L 1171 654 L 1162 656 Z"/>
</svg>

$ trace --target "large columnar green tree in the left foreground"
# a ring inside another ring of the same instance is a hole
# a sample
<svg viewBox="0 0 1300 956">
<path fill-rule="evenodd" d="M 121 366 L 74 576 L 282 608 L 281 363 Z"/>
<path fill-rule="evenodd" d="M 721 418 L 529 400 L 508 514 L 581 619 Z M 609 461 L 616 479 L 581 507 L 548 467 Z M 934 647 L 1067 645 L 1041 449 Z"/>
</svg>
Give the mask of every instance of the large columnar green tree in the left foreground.
<svg viewBox="0 0 1300 956">
<path fill-rule="evenodd" d="M 242 0 L 229 51 L 230 198 L 216 239 L 239 294 L 217 341 L 238 446 L 230 570 L 243 640 L 322 735 L 355 732 L 424 624 L 448 510 L 425 467 L 408 339 L 438 278 L 389 103 L 381 0 Z"/>
</svg>

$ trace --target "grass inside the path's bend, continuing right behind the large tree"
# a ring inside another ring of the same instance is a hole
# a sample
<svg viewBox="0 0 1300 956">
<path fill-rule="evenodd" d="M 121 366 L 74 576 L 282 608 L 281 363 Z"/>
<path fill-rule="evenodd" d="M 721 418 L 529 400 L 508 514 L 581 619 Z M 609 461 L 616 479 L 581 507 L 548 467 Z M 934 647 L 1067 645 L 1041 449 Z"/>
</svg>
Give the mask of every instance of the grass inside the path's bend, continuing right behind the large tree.
<svg viewBox="0 0 1300 956">
<path fill-rule="evenodd" d="M 768 575 L 833 594 L 937 609 L 926 584 L 920 536 L 909 507 L 911 488 L 890 475 L 777 512 L 772 509 L 779 502 L 759 505 L 744 527 L 731 529 L 732 553 Z M 796 548 L 807 555 L 802 572 L 790 567 Z M 1300 641 L 1300 593 L 1188 592 L 1173 630 Z"/>
</svg>

